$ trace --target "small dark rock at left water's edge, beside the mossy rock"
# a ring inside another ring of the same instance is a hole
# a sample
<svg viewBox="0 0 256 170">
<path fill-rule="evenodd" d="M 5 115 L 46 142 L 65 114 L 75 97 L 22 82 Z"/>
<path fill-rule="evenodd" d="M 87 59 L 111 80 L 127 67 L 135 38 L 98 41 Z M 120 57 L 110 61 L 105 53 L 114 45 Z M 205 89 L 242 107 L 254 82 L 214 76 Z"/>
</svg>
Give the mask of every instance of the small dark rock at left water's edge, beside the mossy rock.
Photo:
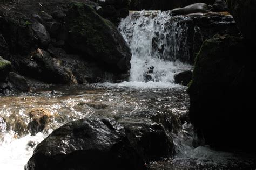
<svg viewBox="0 0 256 170">
<path fill-rule="evenodd" d="M 10 72 L 8 75 L 8 81 L 11 83 L 12 87 L 20 91 L 29 91 L 28 81 L 21 75 L 14 72 Z"/>
</svg>

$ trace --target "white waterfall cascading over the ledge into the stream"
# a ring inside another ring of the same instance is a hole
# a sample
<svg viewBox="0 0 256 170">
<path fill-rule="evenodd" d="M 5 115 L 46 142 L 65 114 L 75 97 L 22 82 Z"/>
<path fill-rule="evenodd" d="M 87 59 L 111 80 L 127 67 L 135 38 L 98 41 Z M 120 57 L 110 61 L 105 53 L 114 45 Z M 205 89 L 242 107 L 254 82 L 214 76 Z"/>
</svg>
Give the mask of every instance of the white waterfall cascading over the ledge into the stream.
<svg viewBox="0 0 256 170">
<path fill-rule="evenodd" d="M 191 69 L 186 17 L 170 12 L 136 11 L 122 20 L 119 30 L 132 51 L 131 82 L 174 82 L 174 75 Z"/>
</svg>

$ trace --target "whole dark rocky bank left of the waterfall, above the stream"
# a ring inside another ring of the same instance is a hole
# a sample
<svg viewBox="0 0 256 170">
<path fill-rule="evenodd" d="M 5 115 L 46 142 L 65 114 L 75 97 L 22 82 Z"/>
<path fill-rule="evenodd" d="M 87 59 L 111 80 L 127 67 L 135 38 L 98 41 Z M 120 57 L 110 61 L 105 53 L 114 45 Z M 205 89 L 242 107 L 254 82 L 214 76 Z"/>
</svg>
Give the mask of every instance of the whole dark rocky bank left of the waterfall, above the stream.
<svg viewBox="0 0 256 170">
<path fill-rule="evenodd" d="M 36 2 L 21 3 L 0 9 L 0 55 L 14 72 L 58 84 L 127 80 L 130 49 L 90 6 L 42 2 L 42 11 Z"/>
</svg>

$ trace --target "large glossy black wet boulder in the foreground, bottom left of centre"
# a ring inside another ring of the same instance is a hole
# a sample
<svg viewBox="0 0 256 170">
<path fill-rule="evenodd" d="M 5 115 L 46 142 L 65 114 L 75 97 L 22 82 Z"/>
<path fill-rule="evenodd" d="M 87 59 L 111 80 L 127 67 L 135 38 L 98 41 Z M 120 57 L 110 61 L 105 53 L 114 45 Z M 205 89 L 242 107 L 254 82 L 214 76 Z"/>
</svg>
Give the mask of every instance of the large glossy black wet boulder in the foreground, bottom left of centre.
<svg viewBox="0 0 256 170">
<path fill-rule="evenodd" d="M 25 169 L 144 169 L 125 129 L 113 119 L 81 119 L 37 145 Z"/>
</svg>

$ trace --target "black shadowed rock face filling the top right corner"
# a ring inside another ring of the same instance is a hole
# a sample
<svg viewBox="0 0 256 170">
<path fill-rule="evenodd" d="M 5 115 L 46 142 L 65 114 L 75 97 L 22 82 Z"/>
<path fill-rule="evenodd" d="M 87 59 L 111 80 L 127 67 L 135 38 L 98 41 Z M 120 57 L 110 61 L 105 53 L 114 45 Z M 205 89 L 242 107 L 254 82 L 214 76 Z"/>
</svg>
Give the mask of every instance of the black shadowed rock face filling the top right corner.
<svg viewBox="0 0 256 170">
<path fill-rule="evenodd" d="M 256 2 L 253 0 L 228 0 L 228 10 L 234 16 L 235 22 L 242 34 L 244 35 L 248 45 L 256 45 Z"/>
</svg>

